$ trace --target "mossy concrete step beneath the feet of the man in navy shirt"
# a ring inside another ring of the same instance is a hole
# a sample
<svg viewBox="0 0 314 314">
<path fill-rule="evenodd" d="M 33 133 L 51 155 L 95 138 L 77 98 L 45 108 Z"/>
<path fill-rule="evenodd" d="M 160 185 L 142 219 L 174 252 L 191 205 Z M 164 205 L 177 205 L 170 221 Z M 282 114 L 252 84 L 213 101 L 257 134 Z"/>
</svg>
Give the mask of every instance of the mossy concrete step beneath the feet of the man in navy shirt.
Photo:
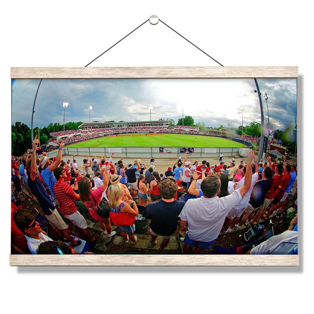
<svg viewBox="0 0 314 314">
<path fill-rule="evenodd" d="M 135 244 L 131 244 L 131 240 L 129 240 L 129 243 L 125 243 L 122 236 L 115 236 L 113 243 L 118 244 L 118 245 L 122 245 L 122 246 L 126 246 L 126 247 L 158 250 L 160 247 L 160 243 L 163 240 L 162 236 L 158 236 L 157 237 L 157 244 L 153 245 L 151 242 L 151 236 L 146 236 L 146 235 L 136 235 L 136 236 L 138 239 L 137 239 Z M 178 249 L 179 249 L 178 240 L 175 236 L 172 236 L 170 238 L 170 242 L 165 247 L 165 250 L 178 250 Z"/>
</svg>

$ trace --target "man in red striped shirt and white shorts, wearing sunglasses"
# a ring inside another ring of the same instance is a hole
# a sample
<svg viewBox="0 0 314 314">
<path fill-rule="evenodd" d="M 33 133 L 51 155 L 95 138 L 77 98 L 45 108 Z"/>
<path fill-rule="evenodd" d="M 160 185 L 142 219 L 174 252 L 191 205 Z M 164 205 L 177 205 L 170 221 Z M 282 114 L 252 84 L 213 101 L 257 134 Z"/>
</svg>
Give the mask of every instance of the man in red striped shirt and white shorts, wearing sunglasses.
<svg viewBox="0 0 314 314">
<path fill-rule="evenodd" d="M 84 234 L 90 242 L 94 242 L 95 238 L 90 235 L 84 217 L 77 211 L 75 206 L 74 200 L 79 200 L 79 195 L 73 191 L 73 187 L 64 181 L 67 178 L 64 168 L 60 166 L 55 168 L 53 175 L 57 180 L 53 192 L 58 200 L 60 213 L 73 222 L 79 233 Z"/>
</svg>

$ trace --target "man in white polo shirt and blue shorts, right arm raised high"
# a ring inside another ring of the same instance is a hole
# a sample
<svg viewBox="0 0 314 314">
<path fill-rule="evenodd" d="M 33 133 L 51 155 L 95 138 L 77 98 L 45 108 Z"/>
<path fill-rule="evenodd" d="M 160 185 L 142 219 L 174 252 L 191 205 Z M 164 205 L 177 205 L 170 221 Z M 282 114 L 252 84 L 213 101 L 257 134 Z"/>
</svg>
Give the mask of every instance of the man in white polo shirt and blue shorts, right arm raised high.
<svg viewBox="0 0 314 314">
<path fill-rule="evenodd" d="M 230 195 L 219 198 L 217 193 L 220 191 L 220 179 L 218 173 L 209 174 L 201 183 L 203 196 L 200 198 L 189 199 L 179 217 L 180 230 L 186 230 L 186 223 L 189 226 L 189 232 L 183 242 L 182 253 L 190 252 L 192 246 L 195 246 L 193 253 L 200 253 L 208 249 L 214 243 L 219 235 L 224 223 L 226 214 L 230 208 L 241 201 L 251 186 L 252 165 L 251 161 L 254 151 L 251 150 L 248 156 L 247 171 L 243 187 L 233 191 Z M 193 179 L 197 180 L 197 179 Z"/>
</svg>

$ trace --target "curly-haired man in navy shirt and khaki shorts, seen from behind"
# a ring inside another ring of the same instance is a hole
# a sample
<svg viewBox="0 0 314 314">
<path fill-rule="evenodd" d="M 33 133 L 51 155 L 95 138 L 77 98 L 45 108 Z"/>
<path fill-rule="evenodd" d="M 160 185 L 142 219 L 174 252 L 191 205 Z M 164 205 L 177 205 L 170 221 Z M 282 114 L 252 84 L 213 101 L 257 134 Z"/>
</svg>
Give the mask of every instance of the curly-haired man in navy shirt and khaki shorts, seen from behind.
<svg viewBox="0 0 314 314">
<path fill-rule="evenodd" d="M 163 250 L 176 231 L 179 214 L 185 202 L 174 199 L 178 189 L 174 179 L 165 178 L 160 182 L 158 188 L 161 199 L 157 203 L 149 203 L 146 206 L 145 218 L 151 219 L 149 231 L 152 237 L 152 244 L 156 245 L 158 235 L 162 235 L 163 240 L 159 249 Z"/>
</svg>

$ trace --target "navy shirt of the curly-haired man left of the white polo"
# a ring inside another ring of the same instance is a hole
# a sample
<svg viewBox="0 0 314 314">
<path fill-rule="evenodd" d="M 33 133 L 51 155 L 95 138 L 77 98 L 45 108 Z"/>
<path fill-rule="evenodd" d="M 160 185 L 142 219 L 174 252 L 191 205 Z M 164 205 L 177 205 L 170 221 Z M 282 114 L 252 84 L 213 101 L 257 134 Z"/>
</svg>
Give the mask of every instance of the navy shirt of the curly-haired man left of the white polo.
<svg viewBox="0 0 314 314">
<path fill-rule="evenodd" d="M 154 233 L 161 236 L 172 236 L 177 229 L 179 214 L 185 202 L 165 202 L 160 199 L 158 202 L 149 203 L 145 209 L 145 218 L 151 219 L 149 227 Z"/>
</svg>

